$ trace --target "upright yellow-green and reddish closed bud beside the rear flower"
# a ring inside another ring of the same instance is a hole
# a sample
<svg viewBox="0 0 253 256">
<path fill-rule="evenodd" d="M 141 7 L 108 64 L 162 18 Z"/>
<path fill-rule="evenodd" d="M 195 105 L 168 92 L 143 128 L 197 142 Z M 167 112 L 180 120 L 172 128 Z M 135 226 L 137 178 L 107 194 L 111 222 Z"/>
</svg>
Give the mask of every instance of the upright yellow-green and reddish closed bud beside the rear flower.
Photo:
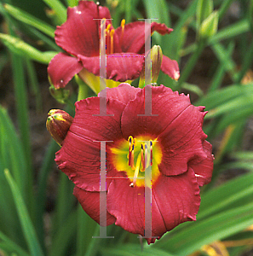
<svg viewBox="0 0 253 256">
<path fill-rule="evenodd" d="M 159 45 L 154 45 L 151 51 L 148 52 L 148 55 L 151 56 L 151 65 L 148 63 L 148 70 L 151 68 L 151 83 L 156 83 L 158 80 L 158 75 L 161 69 L 162 61 L 163 61 L 163 52 Z M 142 68 L 140 75 L 139 87 L 143 88 L 145 85 L 145 65 Z"/>
</svg>

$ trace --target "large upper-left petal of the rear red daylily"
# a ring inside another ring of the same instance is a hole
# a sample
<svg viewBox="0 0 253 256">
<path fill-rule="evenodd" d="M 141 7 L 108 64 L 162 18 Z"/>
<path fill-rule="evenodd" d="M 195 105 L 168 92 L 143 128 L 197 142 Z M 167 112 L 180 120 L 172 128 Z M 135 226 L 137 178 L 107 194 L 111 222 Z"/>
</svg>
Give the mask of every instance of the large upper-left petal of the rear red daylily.
<svg viewBox="0 0 253 256">
<path fill-rule="evenodd" d="M 98 7 L 92 1 L 80 1 L 78 6 L 67 9 L 67 20 L 57 26 L 55 42 L 72 55 L 100 55 L 100 20 L 111 19 L 109 9 Z M 106 24 L 112 23 L 107 20 Z"/>
</svg>

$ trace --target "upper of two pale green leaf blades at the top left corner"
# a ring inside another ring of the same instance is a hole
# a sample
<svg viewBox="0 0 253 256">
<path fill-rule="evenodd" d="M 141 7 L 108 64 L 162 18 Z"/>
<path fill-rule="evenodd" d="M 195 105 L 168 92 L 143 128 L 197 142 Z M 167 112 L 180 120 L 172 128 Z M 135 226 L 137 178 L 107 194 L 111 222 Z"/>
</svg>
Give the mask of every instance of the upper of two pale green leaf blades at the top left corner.
<svg viewBox="0 0 253 256">
<path fill-rule="evenodd" d="M 15 19 L 37 28 L 39 31 L 44 32 L 51 38 L 55 38 L 55 28 L 49 26 L 49 24 L 43 20 L 39 20 L 36 17 L 29 15 L 25 11 L 18 9 L 8 3 L 5 3 L 3 7 L 8 11 L 9 15 L 14 16 Z"/>
</svg>

